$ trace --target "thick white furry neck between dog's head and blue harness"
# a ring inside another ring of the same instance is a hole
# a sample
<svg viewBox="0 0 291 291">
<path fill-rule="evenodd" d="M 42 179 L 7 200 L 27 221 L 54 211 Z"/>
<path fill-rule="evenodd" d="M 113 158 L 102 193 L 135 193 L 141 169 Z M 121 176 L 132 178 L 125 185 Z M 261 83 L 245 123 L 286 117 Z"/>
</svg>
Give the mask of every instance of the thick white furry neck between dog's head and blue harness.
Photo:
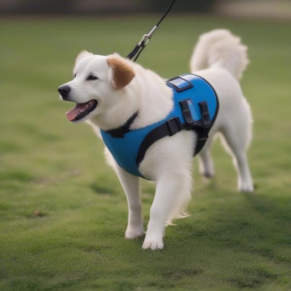
<svg viewBox="0 0 291 291">
<path fill-rule="evenodd" d="M 122 102 L 104 113 L 90 118 L 90 123 L 100 129 L 116 129 L 134 114 L 137 117 L 131 129 L 139 129 L 163 119 L 173 108 L 172 90 L 163 79 L 151 70 L 134 64 L 135 77 L 128 86 L 119 90 Z"/>
</svg>

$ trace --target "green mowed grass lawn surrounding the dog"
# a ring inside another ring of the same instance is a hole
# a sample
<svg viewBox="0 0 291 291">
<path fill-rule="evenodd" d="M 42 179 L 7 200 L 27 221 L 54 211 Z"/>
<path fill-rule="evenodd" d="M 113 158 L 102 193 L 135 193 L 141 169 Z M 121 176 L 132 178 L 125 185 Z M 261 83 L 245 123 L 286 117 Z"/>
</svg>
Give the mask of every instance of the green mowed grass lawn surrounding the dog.
<svg viewBox="0 0 291 291">
<path fill-rule="evenodd" d="M 194 159 L 191 216 L 162 251 L 124 239 L 127 203 L 92 129 L 66 120 L 81 49 L 125 56 L 158 16 L 0 20 L 0 290 L 291 290 L 291 23 L 169 16 L 140 56 L 165 78 L 188 72 L 200 33 L 228 28 L 249 47 L 242 89 L 254 115 L 256 190 L 236 190 L 217 141 L 216 177 Z M 157 96 L 159 98 L 159 96 Z M 143 181 L 144 224 L 154 184 Z M 178 193 L 177 193 L 178 194 Z"/>
</svg>

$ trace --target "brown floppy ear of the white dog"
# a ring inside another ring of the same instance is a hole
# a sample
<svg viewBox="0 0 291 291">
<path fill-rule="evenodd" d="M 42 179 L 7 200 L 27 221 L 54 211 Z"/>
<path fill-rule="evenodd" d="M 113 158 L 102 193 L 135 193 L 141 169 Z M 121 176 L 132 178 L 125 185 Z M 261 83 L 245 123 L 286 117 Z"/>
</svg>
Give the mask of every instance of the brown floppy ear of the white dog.
<svg viewBox="0 0 291 291">
<path fill-rule="evenodd" d="M 135 76 L 134 69 L 130 61 L 114 53 L 107 56 L 108 78 L 109 82 L 115 90 L 119 90 L 127 86 Z"/>
</svg>

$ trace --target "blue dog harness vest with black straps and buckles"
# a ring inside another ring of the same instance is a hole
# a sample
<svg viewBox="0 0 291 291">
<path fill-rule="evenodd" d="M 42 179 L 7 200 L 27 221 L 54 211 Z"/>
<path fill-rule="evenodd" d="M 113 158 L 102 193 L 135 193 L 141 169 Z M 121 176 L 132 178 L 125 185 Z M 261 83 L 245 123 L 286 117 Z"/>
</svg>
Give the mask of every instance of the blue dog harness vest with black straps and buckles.
<svg viewBox="0 0 291 291">
<path fill-rule="evenodd" d="M 102 139 L 120 167 L 132 175 L 143 177 L 139 164 L 146 150 L 165 136 L 181 130 L 197 133 L 196 155 L 205 145 L 208 133 L 218 113 L 218 99 L 214 89 L 204 79 L 193 74 L 184 74 L 166 81 L 173 90 L 174 108 L 161 121 L 141 129 L 129 129 L 138 113 L 118 129 L 104 131 Z"/>
</svg>

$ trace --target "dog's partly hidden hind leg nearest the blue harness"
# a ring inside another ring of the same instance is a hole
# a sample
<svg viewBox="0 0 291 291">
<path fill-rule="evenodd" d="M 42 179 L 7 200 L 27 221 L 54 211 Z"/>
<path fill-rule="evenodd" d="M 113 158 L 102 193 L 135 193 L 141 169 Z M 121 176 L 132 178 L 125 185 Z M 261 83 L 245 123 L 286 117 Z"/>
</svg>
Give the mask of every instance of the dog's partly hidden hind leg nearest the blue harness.
<svg viewBox="0 0 291 291">
<path fill-rule="evenodd" d="M 210 136 L 198 154 L 199 172 L 205 178 L 214 176 L 214 164 L 210 153 L 212 136 Z"/>
</svg>

